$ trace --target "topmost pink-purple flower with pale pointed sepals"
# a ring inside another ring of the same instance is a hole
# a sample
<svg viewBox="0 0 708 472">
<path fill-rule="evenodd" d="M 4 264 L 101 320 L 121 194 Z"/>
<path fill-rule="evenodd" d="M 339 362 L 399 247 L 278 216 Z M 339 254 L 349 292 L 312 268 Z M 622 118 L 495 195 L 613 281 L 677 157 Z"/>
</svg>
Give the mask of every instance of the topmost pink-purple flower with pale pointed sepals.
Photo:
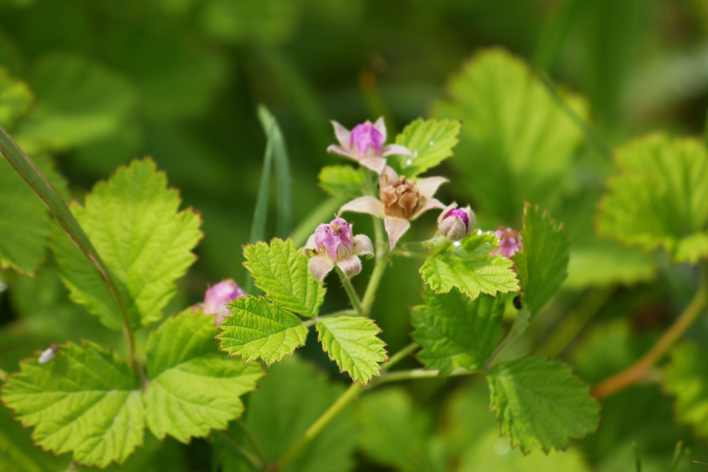
<svg viewBox="0 0 708 472">
<path fill-rule="evenodd" d="M 336 152 L 342 156 L 347 156 L 360 165 L 370 168 L 376 173 L 382 173 L 386 166 L 386 156 L 397 154 L 399 156 L 411 156 L 411 151 L 399 144 L 389 144 L 386 142 L 386 125 L 384 118 L 380 117 L 375 123 L 366 121 L 356 125 L 349 131 L 338 122 L 333 121 L 334 134 L 336 134 L 339 146 L 332 144 L 327 148 L 329 152 Z"/>
</svg>

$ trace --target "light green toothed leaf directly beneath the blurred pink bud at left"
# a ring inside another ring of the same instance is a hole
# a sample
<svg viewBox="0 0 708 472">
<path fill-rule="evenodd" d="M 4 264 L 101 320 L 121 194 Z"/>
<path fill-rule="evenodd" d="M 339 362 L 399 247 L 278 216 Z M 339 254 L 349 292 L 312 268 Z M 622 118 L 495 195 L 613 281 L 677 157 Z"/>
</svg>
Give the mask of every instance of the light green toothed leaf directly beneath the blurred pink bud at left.
<svg viewBox="0 0 708 472">
<path fill-rule="evenodd" d="M 187 309 L 150 335 L 145 420 L 158 439 L 170 434 L 189 442 L 226 429 L 243 413 L 239 396 L 256 388 L 263 369 L 219 352 L 217 333 L 213 316 Z"/>
</svg>

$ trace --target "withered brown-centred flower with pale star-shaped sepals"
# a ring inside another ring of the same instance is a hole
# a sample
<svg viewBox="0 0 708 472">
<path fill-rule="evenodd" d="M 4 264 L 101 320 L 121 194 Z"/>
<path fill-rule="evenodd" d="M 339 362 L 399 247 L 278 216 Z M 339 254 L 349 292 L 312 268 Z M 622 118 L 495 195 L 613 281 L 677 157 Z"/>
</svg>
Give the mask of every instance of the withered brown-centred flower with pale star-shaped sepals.
<svg viewBox="0 0 708 472">
<path fill-rule="evenodd" d="M 393 248 L 411 227 L 411 220 L 420 217 L 429 209 L 445 207 L 439 200 L 433 198 L 433 195 L 438 187 L 447 181 L 442 177 L 428 177 L 416 182 L 403 175 L 396 175 L 394 170 L 387 166 L 379 176 L 381 200 L 370 195 L 359 197 L 341 207 L 339 214 L 368 213 L 384 219 L 389 243 Z"/>
</svg>

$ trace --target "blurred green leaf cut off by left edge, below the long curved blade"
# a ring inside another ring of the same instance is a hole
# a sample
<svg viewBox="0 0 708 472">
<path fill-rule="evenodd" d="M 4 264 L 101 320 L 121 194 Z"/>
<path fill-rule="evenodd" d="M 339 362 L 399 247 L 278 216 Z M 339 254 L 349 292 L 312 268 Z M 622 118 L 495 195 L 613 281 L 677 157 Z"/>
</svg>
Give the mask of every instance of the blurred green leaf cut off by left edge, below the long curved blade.
<svg viewBox="0 0 708 472">
<path fill-rule="evenodd" d="M 31 274 L 44 259 L 49 214 L 10 163 L 0 156 L 0 267 Z"/>
</svg>

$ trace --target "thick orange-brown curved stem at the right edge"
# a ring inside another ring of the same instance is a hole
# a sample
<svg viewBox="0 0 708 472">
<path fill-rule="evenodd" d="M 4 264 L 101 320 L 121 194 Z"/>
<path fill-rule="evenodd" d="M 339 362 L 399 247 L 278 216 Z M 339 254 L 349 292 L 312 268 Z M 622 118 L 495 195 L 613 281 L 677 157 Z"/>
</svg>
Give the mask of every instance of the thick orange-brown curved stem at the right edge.
<svg viewBox="0 0 708 472">
<path fill-rule="evenodd" d="M 683 313 L 681 313 L 681 316 L 668 328 L 666 333 L 659 338 L 644 357 L 635 362 L 631 367 L 603 381 L 602 384 L 595 387 L 591 394 L 595 398 L 603 398 L 634 384 L 636 381 L 646 378 L 646 375 L 650 372 L 651 366 L 668 352 L 670 347 L 685 333 L 698 315 L 702 313 L 707 304 L 708 287 L 703 284 L 694 295 L 690 304 L 688 304 Z"/>
</svg>

